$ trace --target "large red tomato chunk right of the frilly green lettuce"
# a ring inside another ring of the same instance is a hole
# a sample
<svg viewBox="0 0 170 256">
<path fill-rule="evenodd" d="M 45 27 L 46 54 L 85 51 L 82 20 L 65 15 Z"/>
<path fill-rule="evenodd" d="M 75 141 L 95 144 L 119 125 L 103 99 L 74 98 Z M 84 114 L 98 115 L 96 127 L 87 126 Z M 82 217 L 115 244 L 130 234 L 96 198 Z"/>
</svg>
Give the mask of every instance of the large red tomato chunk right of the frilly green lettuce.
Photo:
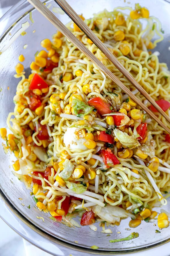
<svg viewBox="0 0 170 256">
<path fill-rule="evenodd" d="M 92 98 L 88 101 L 88 104 L 90 106 L 94 106 L 94 108 L 97 109 L 98 113 L 100 115 L 109 114 L 112 111 L 110 110 L 111 105 L 104 100 L 102 100 L 100 97 Z"/>
</svg>

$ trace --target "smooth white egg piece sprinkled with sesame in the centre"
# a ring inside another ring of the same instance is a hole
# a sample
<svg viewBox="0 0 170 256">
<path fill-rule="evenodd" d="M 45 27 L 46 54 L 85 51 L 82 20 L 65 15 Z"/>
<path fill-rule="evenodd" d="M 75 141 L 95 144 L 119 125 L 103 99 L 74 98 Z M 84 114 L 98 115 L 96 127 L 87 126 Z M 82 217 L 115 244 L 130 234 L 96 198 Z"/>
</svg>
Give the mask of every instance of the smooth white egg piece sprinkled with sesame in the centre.
<svg viewBox="0 0 170 256">
<path fill-rule="evenodd" d="M 76 138 L 75 130 L 76 127 L 68 127 L 67 131 L 64 134 L 63 142 L 66 147 L 69 149 L 81 149 L 81 150 L 87 150 L 88 148 L 84 146 L 84 142 L 86 139 L 80 138 L 79 140 Z"/>
</svg>

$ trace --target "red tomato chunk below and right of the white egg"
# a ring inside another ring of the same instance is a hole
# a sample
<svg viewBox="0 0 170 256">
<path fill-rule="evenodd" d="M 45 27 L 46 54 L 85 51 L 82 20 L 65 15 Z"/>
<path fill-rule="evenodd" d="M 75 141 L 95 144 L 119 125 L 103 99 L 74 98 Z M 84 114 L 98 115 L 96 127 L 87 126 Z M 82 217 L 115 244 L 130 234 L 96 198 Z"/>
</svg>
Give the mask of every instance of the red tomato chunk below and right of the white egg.
<svg viewBox="0 0 170 256">
<path fill-rule="evenodd" d="M 105 166 L 107 168 L 116 165 L 116 164 L 120 164 L 120 161 L 117 159 L 117 157 L 112 153 L 112 150 L 110 148 L 107 148 L 106 150 L 103 149 L 101 151 L 101 156 L 103 158 L 103 161 L 105 163 Z"/>
</svg>

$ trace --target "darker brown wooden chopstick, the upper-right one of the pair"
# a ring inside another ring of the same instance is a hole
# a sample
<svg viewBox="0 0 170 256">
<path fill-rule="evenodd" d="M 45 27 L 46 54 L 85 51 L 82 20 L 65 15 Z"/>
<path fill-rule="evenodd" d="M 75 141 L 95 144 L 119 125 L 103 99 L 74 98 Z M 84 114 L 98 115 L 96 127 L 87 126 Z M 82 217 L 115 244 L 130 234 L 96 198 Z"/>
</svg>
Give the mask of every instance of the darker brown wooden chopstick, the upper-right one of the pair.
<svg viewBox="0 0 170 256">
<path fill-rule="evenodd" d="M 170 117 L 160 108 L 160 106 L 151 98 L 144 88 L 134 79 L 126 68 L 116 59 L 116 57 L 107 49 L 101 40 L 92 32 L 87 24 L 78 16 L 72 7 L 65 0 L 54 0 L 61 9 L 75 22 L 75 24 L 94 42 L 94 44 L 108 57 L 108 59 L 117 67 L 117 69 L 145 96 L 145 98 L 160 112 L 165 119 L 170 122 Z"/>
</svg>

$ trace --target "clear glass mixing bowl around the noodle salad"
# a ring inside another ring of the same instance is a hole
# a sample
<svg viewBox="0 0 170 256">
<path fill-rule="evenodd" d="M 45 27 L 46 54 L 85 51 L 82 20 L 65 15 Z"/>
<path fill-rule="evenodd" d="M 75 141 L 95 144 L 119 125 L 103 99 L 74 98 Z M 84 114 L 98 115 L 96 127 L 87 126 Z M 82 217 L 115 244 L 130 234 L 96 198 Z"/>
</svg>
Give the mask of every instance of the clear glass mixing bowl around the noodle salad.
<svg viewBox="0 0 170 256">
<path fill-rule="evenodd" d="M 104 1 L 104 0 L 72 0 L 68 3 L 75 9 L 77 13 L 83 13 L 85 17 L 92 17 L 93 13 L 97 13 L 106 8 L 112 11 L 117 6 L 132 6 L 134 7 L 136 1 L 126 2 L 124 0 L 117 1 Z M 170 23 L 170 3 L 163 0 L 141 0 L 138 1 L 142 6 L 150 10 L 150 14 L 158 17 L 162 23 L 163 30 L 165 31 L 164 40 L 158 44 L 154 51 L 160 52 L 160 62 L 166 62 L 170 67 L 169 58 L 169 23 Z M 51 11 L 56 11 L 54 7 L 58 7 L 54 1 L 47 1 L 46 6 Z M 30 14 L 31 13 L 31 14 Z M 31 16 L 32 15 L 32 19 Z M 66 15 L 55 13 L 55 15 L 64 24 L 69 21 Z M 27 34 L 18 36 L 16 40 L 10 44 L 9 41 L 12 36 L 21 28 L 22 24 L 26 21 L 29 22 L 29 27 L 25 30 Z M 18 56 L 23 54 L 25 57 L 24 67 L 26 76 L 29 75 L 29 65 L 34 59 L 34 54 L 41 50 L 40 41 L 44 38 L 51 38 L 52 34 L 56 32 L 56 28 L 50 24 L 37 10 L 33 9 L 27 1 L 20 1 L 12 7 L 0 19 L 0 49 L 8 44 L 8 48 L 0 55 L 0 116 L 1 127 L 6 127 L 6 119 L 9 112 L 14 109 L 13 97 L 16 92 L 16 85 L 18 80 L 14 78 L 14 66 L 18 63 Z M 3 28 L 3 29 L 2 29 Z M 102 234 L 102 228 L 97 225 L 97 232 L 89 229 L 88 226 L 81 228 L 69 228 L 60 223 L 54 223 L 49 218 L 48 214 L 40 212 L 35 207 L 35 202 L 30 196 L 30 191 L 25 188 L 25 185 L 15 177 L 11 170 L 12 160 L 14 157 L 11 154 L 5 154 L 3 147 L 0 147 L 0 191 L 2 206 L 7 207 L 11 214 L 18 219 L 19 226 L 15 226 L 20 234 L 20 226 L 23 226 L 29 232 L 25 232 L 24 238 L 28 239 L 31 243 L 43 248 L 44 250 L 55 254 L 54 249 L 50 251 L 49 246 L 46 249 L 45 244 L 50 242 L 53 246 L 63 248 L 65 254 L 68 250 L 70 253 L 75 251 L 76 255 L 89 255 L 94 253 L 96 255 L 109 255 L 137 252 L 145 250 L 153 246 L 162 245 L 170 241 L 169 228 L 161 230 L 160 234 L 156 234 L 156 226 L 154 223 L 143 222 L 134 230 L 128 230 L 129 219 L 122 220 L 120 226 L 114 226 L 112 229 L 113 234 L 106 236 Z M 22 201 L 19 200 L 22 198 Z M 30 205 L 30 209 L 28 206 Z M 170 211 L 170 201 L 165 210 Z M 37 218 L 38 217 L 38 218 Z M 43 217 L 39 218 L 39 217 Z M 3 217 L 4 218 L 4 217 Z M 9 221 L 10 222 L 10 221 Z M 156 223 L 156 221 L 155 221 Z M 10 223 L 12 226 L 12 224 Z M 158 227 L 157 227 L 158 228 Z M 30 236 L 30 230 L 34 235 Z M 119 243 L 109 243 L 110 239 L 122 238 L 129 236 L 131 232 L 138 232 L 139 238 L 123 241 Z M 40 237 L 43 240 L 40 240 Z M 43 241 L 39 244 L 37 241 Z M 90 247 L 96 245 L 99 247 L 97 250 L 92 250 Z M 62 249 L 61 249 L 62 250 Z M 63 255 L 64 255 L 63 254 Z M 62 254 L 61 254 L 62 255 Z M 67 254 L 66 254 L 67 255 Z"/>
</svg>

